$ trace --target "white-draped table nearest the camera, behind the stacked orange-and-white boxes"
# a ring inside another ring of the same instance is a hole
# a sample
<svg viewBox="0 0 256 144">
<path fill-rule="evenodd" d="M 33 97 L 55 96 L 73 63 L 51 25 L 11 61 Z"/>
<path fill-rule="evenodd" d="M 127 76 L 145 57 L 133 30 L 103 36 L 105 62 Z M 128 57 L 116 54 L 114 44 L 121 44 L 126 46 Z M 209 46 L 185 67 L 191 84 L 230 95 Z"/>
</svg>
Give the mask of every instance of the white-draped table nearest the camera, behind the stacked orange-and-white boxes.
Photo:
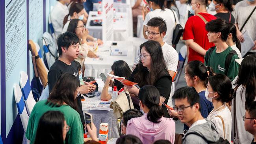
<svg viewBox="0 0 256 144">
<path fill-rule="evenodd" d="M 96 79 L 98 83 L 98 91 L 102 92 L 102 89 L 104 87 L 104 83 L 102 79 Z M 109 93 L 112 91 L 111 87 L 109 87 Z M 95 124 L 97 128 L 97 135 L 99 134 L 99 128 L 100 124 L 102 122 L 108 123 L 109 126 L 109 133 L 108 133 L 108 138 L 119 138 L 119 132 L 117 128 L 117 119 L 114 116 L 113 109 L 110 109 L 109 105 L 110 104 L 99 104 L 97 107 L 92 107 L 92 108 L 86 108 L 85 103 L 89 100 L 100 100 L 100 96 L 95 96 L 93 98 L 87 98 L 85 97 L 85 101 L 82 101 L 82 109 L 83 112 L 88 112 L 91 113 L 93 116 L 93 123 Z M 89 103 L 89 104 L 94 104 L 94 103 Z M 100 110 L 98 110 L 100 109 Z"/>
</svg>

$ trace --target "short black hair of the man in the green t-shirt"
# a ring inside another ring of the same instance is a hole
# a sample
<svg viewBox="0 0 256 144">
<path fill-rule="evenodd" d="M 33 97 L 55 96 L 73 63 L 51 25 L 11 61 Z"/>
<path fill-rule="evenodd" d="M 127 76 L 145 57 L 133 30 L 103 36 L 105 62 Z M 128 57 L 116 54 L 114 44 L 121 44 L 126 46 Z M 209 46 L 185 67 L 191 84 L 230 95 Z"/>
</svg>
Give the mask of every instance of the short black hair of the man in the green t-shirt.
<svg viewBox="0 0 256 144">
<path fill-rule="evenodd" d="M 213 33 L 221 32 L 222 41 L 226 41 L 229 34 L 229 26 L 228 22 L 222 18 L 217 18 L 215 20 L 211 20 L 205 26 L 206 31 L 210 31 Z"/>
</svg>

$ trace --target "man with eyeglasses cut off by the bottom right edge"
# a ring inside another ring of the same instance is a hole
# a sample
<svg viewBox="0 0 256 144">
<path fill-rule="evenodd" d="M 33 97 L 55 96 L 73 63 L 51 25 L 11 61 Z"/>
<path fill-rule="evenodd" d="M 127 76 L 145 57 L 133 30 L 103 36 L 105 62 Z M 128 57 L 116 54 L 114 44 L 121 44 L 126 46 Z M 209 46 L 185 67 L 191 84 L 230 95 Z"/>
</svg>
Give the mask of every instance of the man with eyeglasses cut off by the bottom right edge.
<svg viewBox="0 0 256 144">
<path fill-rule="evenodd" d="M 247 107 L 243 120 L 245 121 L 245 130 L 254 137 L 251 144 L 256 144 L 256 101 Z"/>
</svg>

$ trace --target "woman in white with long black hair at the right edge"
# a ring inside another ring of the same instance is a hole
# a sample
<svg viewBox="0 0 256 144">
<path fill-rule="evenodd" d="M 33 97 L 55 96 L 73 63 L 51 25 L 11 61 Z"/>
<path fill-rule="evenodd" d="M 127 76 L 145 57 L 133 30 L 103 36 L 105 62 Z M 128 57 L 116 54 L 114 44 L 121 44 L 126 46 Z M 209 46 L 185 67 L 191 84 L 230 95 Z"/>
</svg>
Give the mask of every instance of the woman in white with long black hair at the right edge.
<svg viewBox="0 0 256 144">
<path fill-rule="evenodd" d="M 253 135 L 245 130 L 242 117 L 245 115 L 246 107 L 256 101 L 256 54 L 248 55 L 243 59 L 234 81 L 236 96 L 232 100 L 232 119 L 236 108 L 236 138 L 239 139 L 240 144 L 250 144 Z M 232 127 L 234 127 L 233 121 Z"/>
</svg>

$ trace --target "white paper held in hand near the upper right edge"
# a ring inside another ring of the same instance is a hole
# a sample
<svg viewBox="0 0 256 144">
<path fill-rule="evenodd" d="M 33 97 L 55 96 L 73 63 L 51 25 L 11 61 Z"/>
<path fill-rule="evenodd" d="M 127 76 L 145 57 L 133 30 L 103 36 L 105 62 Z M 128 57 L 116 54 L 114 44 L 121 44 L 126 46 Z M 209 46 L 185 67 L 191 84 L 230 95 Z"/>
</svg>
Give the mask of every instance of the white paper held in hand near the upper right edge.
<svg viewBox="0 0 256 144">
<path fill-rule="evenodd" d="M 245 41 L 241 42 L 242 57 L 245 56 L 245 54 L 247 52 L 249 52 L 252 49 L 252 47 L 254 46 L 254 41 L 250 37 L 250 34 L 247 30 L 245 30 L 245 32 L 243 32 L 243 38 L 245 39 Z"/>
</svg>

